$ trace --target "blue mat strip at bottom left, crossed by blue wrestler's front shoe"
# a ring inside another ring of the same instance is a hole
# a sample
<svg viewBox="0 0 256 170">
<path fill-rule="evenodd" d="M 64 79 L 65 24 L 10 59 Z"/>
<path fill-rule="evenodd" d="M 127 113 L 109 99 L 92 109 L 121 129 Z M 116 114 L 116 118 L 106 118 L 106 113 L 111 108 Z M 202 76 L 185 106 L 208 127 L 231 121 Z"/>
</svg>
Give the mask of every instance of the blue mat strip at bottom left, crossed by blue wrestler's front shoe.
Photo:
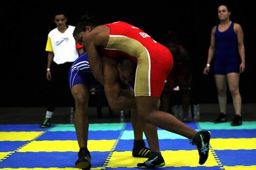
<svg viewBox="0 0 256 170">
<path fill-rule="evenodd" d="M 109 152 L 91 152 L 92 167 L 102 167 L 108 155 Z M 16 152 L 1 162 L 0 168 L 75 167 L 74 160 L 77 152 Z"/>
</svg>

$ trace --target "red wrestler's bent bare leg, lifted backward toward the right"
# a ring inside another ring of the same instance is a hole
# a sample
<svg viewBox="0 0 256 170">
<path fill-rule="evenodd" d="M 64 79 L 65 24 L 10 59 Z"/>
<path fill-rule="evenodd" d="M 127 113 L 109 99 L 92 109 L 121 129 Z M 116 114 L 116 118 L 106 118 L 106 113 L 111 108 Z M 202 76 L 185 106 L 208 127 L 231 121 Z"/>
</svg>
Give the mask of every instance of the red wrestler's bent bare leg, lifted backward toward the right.
<svg viewBox="0 0 256 170">
<path fill-rule="evenodd" d="M 162 128 L 191 139 L 196 131 L 178 120 L 172 114 L 157 111 L 156 105 L 159 98 L 153 96 L 135 96 L 136 106 L 140 119 L 148 124 Z"/>
</svg>

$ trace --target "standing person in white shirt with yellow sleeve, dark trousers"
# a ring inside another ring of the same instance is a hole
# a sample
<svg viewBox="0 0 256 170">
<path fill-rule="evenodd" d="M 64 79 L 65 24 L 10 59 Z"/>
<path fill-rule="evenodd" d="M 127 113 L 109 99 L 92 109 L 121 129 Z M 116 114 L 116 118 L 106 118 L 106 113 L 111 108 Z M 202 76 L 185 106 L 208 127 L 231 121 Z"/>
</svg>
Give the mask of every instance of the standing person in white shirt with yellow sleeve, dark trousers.
<svg viewBox="0 0 256 170">
<path fill-rule="evenodd" d="M 46 69 L 46 78 L 49 81 L 48 89 L 48 107 L 46 117 L 41 124 L 41 128 L 51 126 L 51 118 L 55 110 L 56 103 L 63 97 L 63 94 L 69 94 L 69 101 L 72 96 L 69 92 L 68 71 L 75 59 L 83 52 L 83 46 L 77 46 L 73 37 L 74 26 L 67 25 L 67 17 L 59 12 L 54 16 L 54 22 L 57 28 L 50 31 L 46 44 L 48 52 L 48 62 Z M 73 104 L 71 104 L 73 105 Z M 71 108 L 71 121 L 73 119 L 73 108 Z M 72 123 L 72 122 L 71 122 Z"/>
</svg>

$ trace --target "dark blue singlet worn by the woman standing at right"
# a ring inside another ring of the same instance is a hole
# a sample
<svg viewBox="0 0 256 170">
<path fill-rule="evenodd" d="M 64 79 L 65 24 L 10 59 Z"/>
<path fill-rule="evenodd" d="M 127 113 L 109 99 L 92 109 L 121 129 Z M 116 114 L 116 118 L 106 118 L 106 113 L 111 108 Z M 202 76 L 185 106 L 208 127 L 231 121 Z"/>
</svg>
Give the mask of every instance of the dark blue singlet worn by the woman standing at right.
<svg viewBox="0 0 256 170">
<path fill-rule="evenodd" d="M 215 31 L 215 75 L 227 75 L 230 72 L 240 72 L 237 36 L 234 32 L 234 22 L 226 31 L 220 32 L 219 25 Z"/>
</svg>

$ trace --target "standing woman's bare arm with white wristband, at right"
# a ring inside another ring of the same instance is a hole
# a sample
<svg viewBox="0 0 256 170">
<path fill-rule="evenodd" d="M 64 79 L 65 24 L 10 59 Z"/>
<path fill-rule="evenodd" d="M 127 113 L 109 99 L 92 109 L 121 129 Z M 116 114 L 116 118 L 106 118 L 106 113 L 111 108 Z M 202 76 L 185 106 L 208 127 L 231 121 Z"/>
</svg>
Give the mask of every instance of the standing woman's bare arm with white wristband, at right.
<svg viewBox="0 0 256 170">
<path fill-rule="evenodd" d="M 216 26 L 211 29 L 211 36 L 210 36 L 210 47 L 208 50 L 208 58 L 207 58 L 207 65 L 204 68 L 203 74 L 208 75 L 209 69 L 210 69 L 210 64 L 212 61 L 212 58 L 214 57 L 215 53 L 215 31 L 216 31 Z"/>
</svg>

